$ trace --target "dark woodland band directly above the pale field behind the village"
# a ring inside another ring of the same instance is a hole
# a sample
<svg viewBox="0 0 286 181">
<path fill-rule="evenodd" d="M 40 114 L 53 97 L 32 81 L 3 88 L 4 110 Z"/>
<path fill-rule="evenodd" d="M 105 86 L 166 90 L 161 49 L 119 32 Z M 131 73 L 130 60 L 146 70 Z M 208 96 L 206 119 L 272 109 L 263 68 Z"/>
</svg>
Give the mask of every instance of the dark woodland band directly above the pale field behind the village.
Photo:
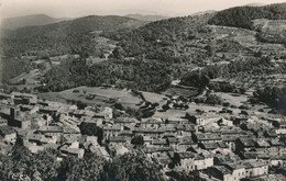
<svg viewBox="0 0 286 181">
<path fill-rule="evenodd" d="M 170 84 L 170 67 L 156 61 L 109 60 L 88 66 L 85 59 L 69 59 L 45 75 L 45 91 L 62 91 L 79 86 L 124 84 L 124 88 L 160 91 Z"/>
</svg>

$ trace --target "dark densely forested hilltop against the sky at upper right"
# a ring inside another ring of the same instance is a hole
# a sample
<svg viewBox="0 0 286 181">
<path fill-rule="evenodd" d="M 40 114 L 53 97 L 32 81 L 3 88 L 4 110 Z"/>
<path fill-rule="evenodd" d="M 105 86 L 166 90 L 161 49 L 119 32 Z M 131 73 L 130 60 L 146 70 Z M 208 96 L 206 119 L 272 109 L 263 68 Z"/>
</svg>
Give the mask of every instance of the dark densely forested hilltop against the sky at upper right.
<svg viewBox="0 0 286 181">
<path fill-rule="evenodd" d="M 218 12 L 209 24 L 251 29 L 252 20 L 286 20 L 286 3 L 264 7 L 235 7 Z"/>
</svg>

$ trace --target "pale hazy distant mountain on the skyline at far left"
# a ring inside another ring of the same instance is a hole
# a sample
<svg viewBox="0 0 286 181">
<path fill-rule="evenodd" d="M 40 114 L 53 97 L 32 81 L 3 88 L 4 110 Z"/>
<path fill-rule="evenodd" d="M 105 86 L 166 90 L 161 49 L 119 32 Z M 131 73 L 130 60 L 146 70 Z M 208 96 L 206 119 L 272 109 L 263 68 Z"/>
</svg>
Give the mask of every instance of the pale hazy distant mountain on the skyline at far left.
<svg viewBox="0 0 286 181">
<path fill-rule="evenodd" d="M 38 26 L 38 25 L 52 24 L 65 20 L 69 20 L 69 19 L 54 19 L 46 14 L 33 14 L 26 16 L 3 19 L 1 22 L 1 27 L 8 30 L 16 30 L 25 26 Z"/>
</svg>

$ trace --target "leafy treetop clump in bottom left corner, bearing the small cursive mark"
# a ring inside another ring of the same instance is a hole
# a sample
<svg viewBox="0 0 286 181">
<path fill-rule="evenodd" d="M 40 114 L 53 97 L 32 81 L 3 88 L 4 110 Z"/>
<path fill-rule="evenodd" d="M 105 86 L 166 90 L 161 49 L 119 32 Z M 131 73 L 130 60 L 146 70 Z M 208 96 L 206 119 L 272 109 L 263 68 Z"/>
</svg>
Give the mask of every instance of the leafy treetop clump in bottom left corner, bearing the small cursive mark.
<svg viewBox="0 0 286 181">
<path fill-rule="evenodd" d="M 58 154 L 47 149 L 33 155 L 26 148 L 16 146 L 11 156 L 0 155 L 0 180 L 19 180 L 21 176 L 36 181 L 55 180 L 61 167 Z"/>
</svg>

